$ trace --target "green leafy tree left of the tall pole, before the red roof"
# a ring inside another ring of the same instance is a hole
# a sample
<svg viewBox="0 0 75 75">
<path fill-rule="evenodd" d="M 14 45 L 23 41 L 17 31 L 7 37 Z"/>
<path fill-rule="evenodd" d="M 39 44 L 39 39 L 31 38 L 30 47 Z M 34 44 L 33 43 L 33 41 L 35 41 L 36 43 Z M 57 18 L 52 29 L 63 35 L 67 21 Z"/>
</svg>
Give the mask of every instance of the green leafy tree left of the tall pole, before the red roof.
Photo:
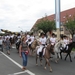
<svg viewBox="0 0 75 75">
<path fill-rule="evenodd" d="M 43 30 L 44 33 L 52 32 L 52 30 L 55 30 L 55 22 L 54 21 L 50 21 L 47 18 L 42 18 L 36 25 L 38 30 Z"/>
</svg>

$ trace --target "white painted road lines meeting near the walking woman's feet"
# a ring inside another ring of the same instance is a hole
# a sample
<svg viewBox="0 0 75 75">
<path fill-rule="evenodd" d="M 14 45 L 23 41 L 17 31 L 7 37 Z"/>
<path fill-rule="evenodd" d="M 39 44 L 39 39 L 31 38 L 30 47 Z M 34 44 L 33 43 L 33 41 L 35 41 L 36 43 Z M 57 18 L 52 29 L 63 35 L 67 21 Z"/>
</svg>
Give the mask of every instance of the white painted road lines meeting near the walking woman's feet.
<svg viewBox="0 0 75 75">
<path fill-rule="evenodd" d="M 1 51 L 0 51 L 1 52 Z M 18 67 L 22 68 L 22 66 L 17 63 L 16 61 L 14 61 L 13 59 L 11 59 L 9 56 L 7 56 L 5 53 L 1 52 L 5 57 L 7 57 L 10 61 L 12 61 L 14 64 L 16 64 Z M 14 74 L 9 74 L 9 75 L 18 75 L 18 74 L 21 74 L 21 73 L 25 73 L 27 72 L 28 74 L 30 75 L 35 75 L 33 72 L 29 71 L 29 70 L 25 70 L 23 72 L 18 72 L 18 73 L 14 73 Z"/>
</svg>

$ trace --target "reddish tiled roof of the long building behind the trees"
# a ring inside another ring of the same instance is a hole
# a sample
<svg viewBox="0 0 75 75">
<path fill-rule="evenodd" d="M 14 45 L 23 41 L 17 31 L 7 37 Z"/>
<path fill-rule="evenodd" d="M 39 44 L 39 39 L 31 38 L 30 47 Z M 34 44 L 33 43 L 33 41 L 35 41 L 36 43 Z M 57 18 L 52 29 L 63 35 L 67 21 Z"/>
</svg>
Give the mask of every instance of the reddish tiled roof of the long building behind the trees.
<svg viewBox="0 0 75 75">
<path fill-rule="evenodd" d="M 68 15 L 69 17 L 75 16 L 75 7 L 60 12 L 60 21 L 61 21 L 61 22 L 65 22 L 67 15 Z M 46 16 L 46 18 L 47 18 L 48 20 L 50 20 L 50 21 L 53 21 L 53 20 L 55 20 L 55 14 L 52 14 L 52 15 L 50 15 L 50 16 Z M 41 19 L 45 19 L 45 17 L 38 19 L 38 20 L 35 22 L 35 24 L 37 24 Z M 33 25 L 32 29 L 35 27 L 35 24 Z"/>
</svg>

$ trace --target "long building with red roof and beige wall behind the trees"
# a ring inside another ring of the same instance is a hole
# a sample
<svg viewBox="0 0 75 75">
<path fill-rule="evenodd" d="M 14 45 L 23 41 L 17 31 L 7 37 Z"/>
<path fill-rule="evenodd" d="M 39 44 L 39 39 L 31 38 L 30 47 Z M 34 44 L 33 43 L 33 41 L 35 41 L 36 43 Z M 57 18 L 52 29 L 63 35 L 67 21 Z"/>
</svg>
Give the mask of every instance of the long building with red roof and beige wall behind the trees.
<svg viewBox="0 0 75 75">
<path fill-rule="evenodd" d="M 68 10 L 65 10 L 65 11 L 62 11 L 60 12 L 60 33 L 61 34 L 65 34 L 65 35 L 69 35 L 70 36 L 70 33 L 68 32 L 68 30 L 66 30 L 66 28 L 63 26 L 65 21 L 67 21 L 67 16 L 69 17 L 72 17 L 75 16 L 75 7 L 74 8 L 71 8 L 71 9 L 68 9 Z M 45 19 L 45 17 L 43 17 Z M 50 16 L 46 16 L 46 18 L 50 21 L 52 20 L 55 20 L 55 14 L 52 14 Z M 37 24 L 42 18 L 38 19 L 35 24 Z M 35 24 L 33 25 L 32 29 L 35 29 Z M 55 32 L 55 31 L 54 31 Z M 57 33 L 56 33 L 57 34 Z"/>
</svg>

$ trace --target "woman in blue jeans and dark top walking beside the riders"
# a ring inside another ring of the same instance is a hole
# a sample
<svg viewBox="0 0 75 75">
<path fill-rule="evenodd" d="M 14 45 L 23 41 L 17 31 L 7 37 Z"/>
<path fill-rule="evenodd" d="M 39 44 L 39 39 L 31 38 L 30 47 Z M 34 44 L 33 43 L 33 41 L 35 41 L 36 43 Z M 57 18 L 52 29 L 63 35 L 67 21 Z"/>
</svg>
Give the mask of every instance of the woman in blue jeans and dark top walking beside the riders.
<svg viewBox="0 0 75 75">
<path fill-rule="evenodd" d="M 26 36 L 23 36 L 22 37 L 22 40 L 21 40 L 21 44 L 20 44 L 20 47 L 19 47 L 19 54 L 20 54 L 20 57 L 23 58 L 23 68 L 22 70 L 26 70 L 26 66 L 27 66 L 27 56 L 28 56 L 28 53 L 29 53 L 29 47 L 27 45 L 27 37 Z"/>
</svg>

